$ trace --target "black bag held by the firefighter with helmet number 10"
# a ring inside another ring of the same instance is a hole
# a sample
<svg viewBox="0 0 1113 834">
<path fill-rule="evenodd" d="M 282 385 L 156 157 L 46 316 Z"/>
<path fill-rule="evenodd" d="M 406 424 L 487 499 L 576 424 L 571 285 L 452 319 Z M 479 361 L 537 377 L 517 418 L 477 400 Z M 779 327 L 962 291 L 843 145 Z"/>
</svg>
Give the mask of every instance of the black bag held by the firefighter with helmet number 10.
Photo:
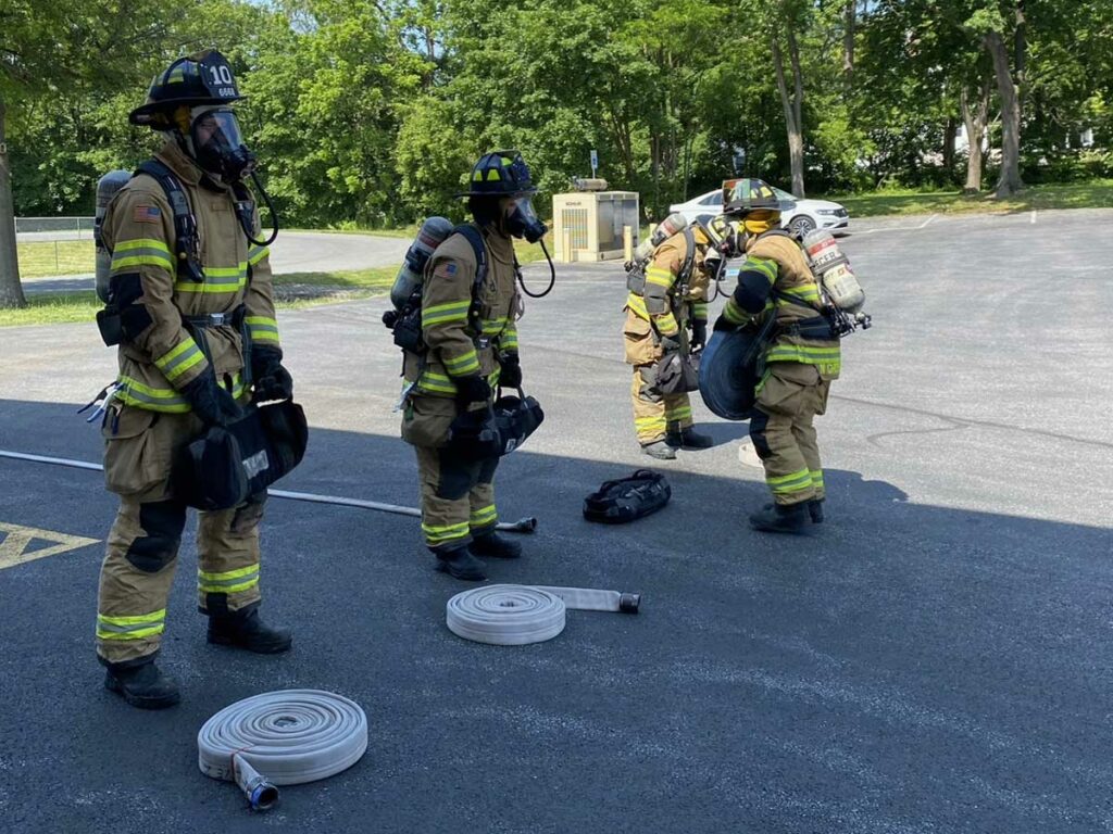
<svg viewBox="0 0 1113 834">
<path fill-rule="evenodd" d="M 230 509 L 302 463 L 309 428 L 293 400 L 248 406 L 227 426 L 213 426 L 174 461 L 174 496 L 197 509 Z"/>
</svg>

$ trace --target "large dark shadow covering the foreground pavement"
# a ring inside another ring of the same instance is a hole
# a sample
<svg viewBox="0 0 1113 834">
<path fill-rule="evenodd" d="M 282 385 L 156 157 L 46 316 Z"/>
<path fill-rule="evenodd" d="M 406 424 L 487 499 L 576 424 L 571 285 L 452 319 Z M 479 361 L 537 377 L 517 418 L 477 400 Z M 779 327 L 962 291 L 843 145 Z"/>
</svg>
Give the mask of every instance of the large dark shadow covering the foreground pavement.
<svg viewBox="0 0 1113 834">
<path fill-rule="evenodd" d="M 0 448 L 98 460 L 75 408 L 0 403 Z M 707 428 L 720 443 L 745 431 Z M 503 518 L 540 527 L 519 539 L 521 560 L 491 563 L 492 582 L 644 595 L 638 616 L 572 612 L 535 646 L 447 632 L 444 604 L 465 586 L 431 569 L 416 519 L 278 499 L 264 610 L 295 628 L 294 652 L 207 646 L 187 533 L 162 656 L 185 701 L 165 713 L 100 688 L 102 545 L 0 570 L 4 830 L 171 831 L 198 814 L 246 830 L 238 791 L 198 772 L 196 733 L 235 699 L 294 687 L 353 697 L 371 723 L 351 771 L 284 791 L 267 822 L 298 832 L 1107 821 L 1107 529 L 917 505 L 844 470 L 827 473 L 829 520 L 807 537 L 746 527 L 759 481 L 690 471 L 669 474 L 673 500 L 652 517 L 584 522 L 583 497 L 629 469 L 529 445 L 504 460 Z M 417 494 L 400 439 L 321 429 L 278 486 L 406 505 Z M 101 539 L 115 508 L 97 473 L 4 459 L 0 496 L 0 523 Z"/>
</svg>

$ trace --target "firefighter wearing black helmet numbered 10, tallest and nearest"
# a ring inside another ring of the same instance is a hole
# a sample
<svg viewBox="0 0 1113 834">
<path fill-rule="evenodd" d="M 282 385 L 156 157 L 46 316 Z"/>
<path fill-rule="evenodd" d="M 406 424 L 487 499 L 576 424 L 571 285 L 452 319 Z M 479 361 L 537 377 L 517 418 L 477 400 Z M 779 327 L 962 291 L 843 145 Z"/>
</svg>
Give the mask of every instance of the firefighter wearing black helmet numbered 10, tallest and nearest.
<svg viewBox="0 0 1113 834">
<path fill-rule="evenodd" d="M 242 178 L 254 157 L 228 108 L 238 98 L 218 52 L 179 59 L 157 76 L 130 120 L 166 142 L 105 216 L 111 277 L 98 324 L 106 341 L 119 344 L 118 387 L 102 428 L 105 479 L 120 507 L 100 572 L 97 654 L 106 686 L 146 708 L 179 698 L 155 664 L 186 524 L 186 505 L 169 486 L 171 461 L 209 427 L 235 419 L 253 389 L 259 400 L 293 394 L 268 250 L 252 242 L 258 214 Z M 200 514 L 198 607 L 208 615 L 209 643 L 278 653 L 289 648 L 289 633 L 258 615 L 265 499 L 264 490 L 243 506 Z"/>
</svg>

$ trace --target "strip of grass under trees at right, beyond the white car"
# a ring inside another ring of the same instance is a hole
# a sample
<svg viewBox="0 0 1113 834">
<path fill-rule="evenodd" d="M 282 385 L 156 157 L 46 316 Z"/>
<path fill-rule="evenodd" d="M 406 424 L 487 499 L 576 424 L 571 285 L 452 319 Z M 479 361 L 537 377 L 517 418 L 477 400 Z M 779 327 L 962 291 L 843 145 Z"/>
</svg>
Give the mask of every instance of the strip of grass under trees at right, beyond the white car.
<svg viewBox="0 0 1113 834">
<path fill-rule="evenodd" d="M 991 183 L 992 185 L 992 183 Z M 1007 214 L 1066 208 L 1113 207 L 1113 180 L 1031 186 L 1015 197 L 996 200 L 962 191 L 883 191 L 830 199 L 846 206 L 850 217 L 881 215 Z"/>
</svg>

